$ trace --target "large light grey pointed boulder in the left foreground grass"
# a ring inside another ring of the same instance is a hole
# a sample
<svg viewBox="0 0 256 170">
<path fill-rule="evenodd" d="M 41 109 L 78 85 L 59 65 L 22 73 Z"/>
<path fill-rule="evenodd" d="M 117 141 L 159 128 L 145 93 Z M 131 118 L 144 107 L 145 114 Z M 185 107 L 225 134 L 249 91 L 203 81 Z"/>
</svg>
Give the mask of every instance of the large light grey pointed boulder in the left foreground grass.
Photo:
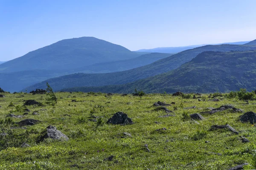
<svg viewBox="0 0 256 170">
<path fill-rule="evenodd" d="M 51 138 L 53 140 L 63 140 L 63 141 L 69 140 L 69 138 L 64 133 L 57 130 L 57 128 L 52 125 L 49 125 L 46 128 L 46 130 L 47 130 L 46 133 L 44 134 L 44 136 L 41 136 L 38 142 L 44 141 L 44 139 L 47 139 L 47 138 Z"/>
</svg>

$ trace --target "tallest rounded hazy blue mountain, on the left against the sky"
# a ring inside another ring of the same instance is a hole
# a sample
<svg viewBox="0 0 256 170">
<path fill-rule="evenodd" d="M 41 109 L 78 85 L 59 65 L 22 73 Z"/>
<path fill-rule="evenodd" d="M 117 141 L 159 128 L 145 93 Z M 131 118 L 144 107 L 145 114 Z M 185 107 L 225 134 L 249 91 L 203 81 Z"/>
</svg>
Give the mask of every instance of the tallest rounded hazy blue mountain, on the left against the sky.
<svg viewBox="0 0 256 170">
<path fill-rule="evenodd" d="M 0 65 L 0 72 L 70 70 L 101 62 L 131 59 L 141 54 L 94 37 L 58 41 Z"/>
</svg>

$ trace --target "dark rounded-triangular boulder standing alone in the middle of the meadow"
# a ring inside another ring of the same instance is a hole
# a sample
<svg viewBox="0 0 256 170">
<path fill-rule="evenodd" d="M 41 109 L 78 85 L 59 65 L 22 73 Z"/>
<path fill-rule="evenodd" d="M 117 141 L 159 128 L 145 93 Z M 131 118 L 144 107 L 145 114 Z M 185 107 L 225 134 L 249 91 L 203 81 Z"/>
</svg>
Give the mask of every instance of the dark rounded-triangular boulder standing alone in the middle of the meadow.
<svg viewBox="0 0 256 170">
<path fill-rule="evenodd" d="M 108 119 L 109 124 L 113 125 L 132 125 L 134 122 L 132 122 L 131 118 L 128 118 L 128 115 L 123 112 L 117 112 L 115 113 L 110 119 Z"/>
</svg>

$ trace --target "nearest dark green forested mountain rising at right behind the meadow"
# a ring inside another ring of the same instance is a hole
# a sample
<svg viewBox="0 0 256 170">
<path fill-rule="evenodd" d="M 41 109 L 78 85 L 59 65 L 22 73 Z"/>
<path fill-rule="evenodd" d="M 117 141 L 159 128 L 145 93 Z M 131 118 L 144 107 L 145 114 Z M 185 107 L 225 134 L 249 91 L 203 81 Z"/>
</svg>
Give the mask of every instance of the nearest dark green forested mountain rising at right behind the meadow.
<svg viewBox="0 0 256 170">
<path fill-rule="evenodd" d="M 147 93 L 175 91 L 212 93 L 246 88 L 256 89 L 256 50 L 216 52 L 206 51 L 179 68 L 125 85 L 68 88 L 62 91 L 101 91 L 132 93 L 134 89 Z"/>
</svg>

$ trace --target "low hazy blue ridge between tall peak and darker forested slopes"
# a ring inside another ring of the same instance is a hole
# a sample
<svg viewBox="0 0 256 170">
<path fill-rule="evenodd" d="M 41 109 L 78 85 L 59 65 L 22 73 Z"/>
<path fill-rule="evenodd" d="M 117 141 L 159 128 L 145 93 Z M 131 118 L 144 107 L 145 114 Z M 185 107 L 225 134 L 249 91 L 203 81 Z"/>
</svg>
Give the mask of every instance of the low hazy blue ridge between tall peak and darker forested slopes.
<svg viewBox="0 0 256 170">
<path fill-rule="evenodd" d="M 172 54 L 166 53 L 150 53 L 143 54 L 140 57 L 136 57 L 133 59 L 126 59 L 121 61 L 113 61 L 113 62 L 104 62 L 97 63 L 94 65 L 89 65 L 85 67 L 78 68 L 74 70 L 74 72 L 81 73 L 111 73 L 118 71 L 125 71 L 132 68 L 141 67 L 143 65 L 151 64 L 159 59 L 163 59 L 166 57 L 172 56 Z"/>
</svg>

